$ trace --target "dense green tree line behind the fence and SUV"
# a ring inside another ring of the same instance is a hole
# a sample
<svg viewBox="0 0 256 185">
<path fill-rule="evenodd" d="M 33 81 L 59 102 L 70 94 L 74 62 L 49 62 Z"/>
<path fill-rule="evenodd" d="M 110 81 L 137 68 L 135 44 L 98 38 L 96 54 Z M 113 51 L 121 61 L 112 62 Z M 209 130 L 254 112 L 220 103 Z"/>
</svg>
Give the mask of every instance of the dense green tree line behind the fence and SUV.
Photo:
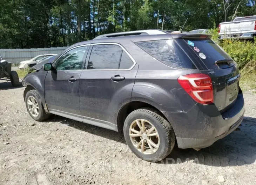
<svg viewBox="0 0 256 185">
<path fill-rule="evenodd" d="M 70 46 L 100 34 L 212 28 L 256 15 L 255 0 L 1 0 L 0 49 Z"/>
</svg>

